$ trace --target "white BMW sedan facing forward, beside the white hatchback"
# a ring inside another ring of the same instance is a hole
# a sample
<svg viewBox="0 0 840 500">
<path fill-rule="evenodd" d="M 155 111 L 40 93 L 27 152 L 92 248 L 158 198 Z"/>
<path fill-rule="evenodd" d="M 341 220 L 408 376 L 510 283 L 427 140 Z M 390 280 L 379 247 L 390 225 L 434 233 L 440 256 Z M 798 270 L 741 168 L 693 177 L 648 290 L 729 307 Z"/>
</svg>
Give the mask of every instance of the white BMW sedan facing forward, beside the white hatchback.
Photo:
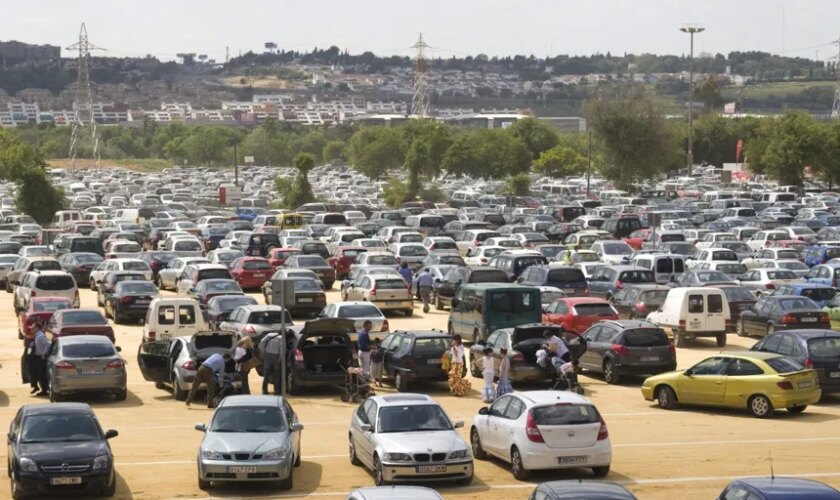
<svg viewBox="0 0 840 500">
<path fill-rule="evenodd" d="M 373 396 L 351 417 L 350 463 L 370 469 L 377 486 L 401 480 L 469 484 L 473 459 L 457 431 L 463 425 L 425 394 Z"/>
</svg>

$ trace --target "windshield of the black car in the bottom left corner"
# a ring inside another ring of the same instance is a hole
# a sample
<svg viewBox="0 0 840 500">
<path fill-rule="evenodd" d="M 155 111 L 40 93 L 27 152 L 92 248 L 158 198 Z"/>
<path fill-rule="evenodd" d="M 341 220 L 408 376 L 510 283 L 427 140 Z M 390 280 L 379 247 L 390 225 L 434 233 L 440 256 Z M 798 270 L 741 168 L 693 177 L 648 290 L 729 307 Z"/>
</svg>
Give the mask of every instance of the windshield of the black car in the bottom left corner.
<svg viewBox="0 0 840 500">
<path fill-rule="evenodd" d="M 102 431 L 93 415 L 64 413 L 30 415 L 23 421 L 22 443 L 99 441 Z"/>
</svg>

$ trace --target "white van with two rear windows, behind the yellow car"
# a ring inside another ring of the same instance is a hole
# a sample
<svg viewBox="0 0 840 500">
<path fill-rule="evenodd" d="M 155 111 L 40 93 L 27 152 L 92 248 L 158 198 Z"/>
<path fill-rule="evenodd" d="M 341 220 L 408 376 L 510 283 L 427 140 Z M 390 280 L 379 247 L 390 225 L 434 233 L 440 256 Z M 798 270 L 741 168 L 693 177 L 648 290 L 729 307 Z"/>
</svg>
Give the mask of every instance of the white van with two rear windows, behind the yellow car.
<svg viewBox="0 0 840 500">
<path fill-rule="evenodd" d="M 659 310 L 648 314 L 647 320 L 670 328 L 677 347 L 685 347 L 686 339 L 697 337 L 715 337 L 718 347 L 724 347 L 731 316 L 721 289 L 689 287 L 669 291 Z"/>
</svg>

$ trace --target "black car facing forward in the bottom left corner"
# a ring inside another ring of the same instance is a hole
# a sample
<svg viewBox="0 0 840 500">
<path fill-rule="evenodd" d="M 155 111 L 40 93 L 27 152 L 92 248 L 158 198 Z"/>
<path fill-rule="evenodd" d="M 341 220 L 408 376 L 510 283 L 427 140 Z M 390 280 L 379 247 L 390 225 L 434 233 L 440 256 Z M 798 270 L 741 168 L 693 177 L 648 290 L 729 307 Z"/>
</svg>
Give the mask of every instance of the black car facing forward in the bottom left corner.
<svg viewBox="0 0 840 500">
<path fill-rule="evenodd" d="M 8 434 L 12 498 L 86 492 L 106 497 L 117 489 L 114 455 L 85 403 L 24 405 Z"/>
</svg>

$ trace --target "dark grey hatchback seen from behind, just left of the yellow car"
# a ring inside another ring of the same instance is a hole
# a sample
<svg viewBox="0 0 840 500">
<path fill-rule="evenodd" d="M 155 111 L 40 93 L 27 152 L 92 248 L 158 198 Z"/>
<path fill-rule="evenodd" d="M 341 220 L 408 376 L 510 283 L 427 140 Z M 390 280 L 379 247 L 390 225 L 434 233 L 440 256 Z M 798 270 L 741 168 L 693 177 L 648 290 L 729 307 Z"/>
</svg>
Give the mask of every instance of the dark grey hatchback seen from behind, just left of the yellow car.
<svg viewBox="0 0 840 500">
<path fill-rule="evenodd" d="M 649 321 L 607 320 L 583 333 L 588 346 L 580 367 L 617 384 L 631 374 L 656 375 L 677 369 L 677 351 L 665 330 Z"/>
</svg>

